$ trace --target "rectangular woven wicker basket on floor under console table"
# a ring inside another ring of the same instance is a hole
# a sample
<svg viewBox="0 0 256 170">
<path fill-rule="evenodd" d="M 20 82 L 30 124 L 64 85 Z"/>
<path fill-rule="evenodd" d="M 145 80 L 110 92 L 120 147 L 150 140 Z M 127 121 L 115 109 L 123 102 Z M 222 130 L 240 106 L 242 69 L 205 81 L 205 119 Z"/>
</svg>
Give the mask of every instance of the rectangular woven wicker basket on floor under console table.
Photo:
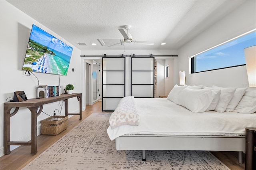
<svg viewBox="0 0 256 170">
<path fill-rule="evenodd" d="M 57 135 L 68 127 L 68 116 L 54 116 L 41 121 L 41 134 Z"/>
</svg>

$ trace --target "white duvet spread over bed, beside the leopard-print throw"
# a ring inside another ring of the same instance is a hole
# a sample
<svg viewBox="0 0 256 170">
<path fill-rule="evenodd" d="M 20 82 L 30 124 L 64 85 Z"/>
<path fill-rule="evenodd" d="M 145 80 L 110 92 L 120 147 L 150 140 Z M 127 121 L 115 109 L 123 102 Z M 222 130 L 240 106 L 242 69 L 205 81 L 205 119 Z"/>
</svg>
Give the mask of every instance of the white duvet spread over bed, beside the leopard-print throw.
<svg viewBox="0 0 256 170">
<path fill-rule="evenodd" d="M 167 98 L 135 98 L 135 101 L 140 124 L 108 127 L 111 140 L 124 134 L 241 136 L 245 135 L 246 127 L 256 127 L 256 113 L 193 113 Z"/>
</svg>

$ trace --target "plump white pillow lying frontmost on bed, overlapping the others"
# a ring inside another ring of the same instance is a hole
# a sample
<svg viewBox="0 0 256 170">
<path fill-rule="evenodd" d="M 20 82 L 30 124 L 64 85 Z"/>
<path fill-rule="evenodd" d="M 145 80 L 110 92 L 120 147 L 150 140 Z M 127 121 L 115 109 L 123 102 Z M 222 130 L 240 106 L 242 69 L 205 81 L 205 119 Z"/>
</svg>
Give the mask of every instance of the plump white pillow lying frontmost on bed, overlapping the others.
<svg viewBox="0 0 256 170">
<path fill-rule="evenodd" d="M 178 103 L 194 113 L 206 111 L 217 95 L 212 90 L 185 88 L 180 91 Z"/>
</svg>

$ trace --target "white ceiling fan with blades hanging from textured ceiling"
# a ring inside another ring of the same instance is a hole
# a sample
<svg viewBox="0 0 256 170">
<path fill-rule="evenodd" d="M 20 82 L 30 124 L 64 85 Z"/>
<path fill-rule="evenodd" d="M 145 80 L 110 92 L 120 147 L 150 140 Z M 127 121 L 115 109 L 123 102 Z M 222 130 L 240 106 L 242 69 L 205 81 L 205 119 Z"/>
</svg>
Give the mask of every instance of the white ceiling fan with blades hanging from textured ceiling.
<svg viewBox="0 0 256 170">
<path fill-rule="evenodd" d="M 124 43 L 140 43 L 140 44 L 146 44 L 146 45 L 154 45 L 153 42 L 142 42 L 142 41 L 132 40 L 132 35 L 129 33 L 130 28 L 131 28 L 131 26 L 129 26 L 129 25 L 124 26 L 124 28 L 119 28 L 118 30 L 120 31 L 120 33 L 124 37 L 124 40 L 120 43 L 109 45 L 108 47 L 112 47 L 112 46 L 118 45 L 118 44 L 124 45 Z M 124 29 L 127 30 L 127 33 L 125 32 Z"/>
</svg>

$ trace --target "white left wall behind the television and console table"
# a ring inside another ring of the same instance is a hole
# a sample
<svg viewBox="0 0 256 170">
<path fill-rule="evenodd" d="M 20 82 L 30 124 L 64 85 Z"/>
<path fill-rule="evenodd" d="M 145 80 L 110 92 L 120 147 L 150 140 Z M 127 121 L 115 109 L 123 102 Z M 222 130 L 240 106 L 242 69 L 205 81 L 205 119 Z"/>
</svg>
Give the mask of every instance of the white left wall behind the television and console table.
<svg viewBox="0 0 256 170">
<path fill-rule="evenodd" d="M 14 91 L 25 91 L 28 99 L 36 97 L 36 86 L 39 79 L 40 84 L 58 85 L 59 75 L 50 75 L 34 72 L 34 77 L 24 75 L 22 65 L 26 54 L 26 48 L 30 36 L 32 24 L 42 28 L 46 32 L 66 42 L 63 38 L 38 23 L 33 18 L 27 16 L 8 2 L 0 0 L 0 156 L 3 155 L 3 120 L 4 120 L 4 102 L 8 97 L 13 97 Z M 74 93 L 81 93 L 81 51 L 74 47 L 70 69 L 67 76 L 60 76 L 60 85 L 62 93 L 67 84 L 74 85 Z M 72 72 L 74 68 L 74 72 Z M 84 97 L 83 97 L 84 98 Z M 84 100 L 84 99 L 83 99 Z M 61 102 L 60 102 L 61 103 Z M 68 112 L 79 113 L 79 102 L 76 98 L 68 101 Z M 84 105 L 82 106 L 84 108 Z M 43 111 L 50 114 L 54 109 L 60 109 L 58 102 L 44 105 Z M 64 115 L 64 107 L 62 114 Z M 20 108 L 18 113 L 11 117 L 10 139 L 12 141 L 28 141 L 31 139 L 31 116 L 30 111 L 26 108 Z M 58 115 L 58 114 L 57 114 Z M 40 134 L 40 120 L 46 119 L 48 115 L 41 113 L 38 120 L 38 134 Z M 16 146 L 11 146 L 14 148 Z"/>
</svg>

